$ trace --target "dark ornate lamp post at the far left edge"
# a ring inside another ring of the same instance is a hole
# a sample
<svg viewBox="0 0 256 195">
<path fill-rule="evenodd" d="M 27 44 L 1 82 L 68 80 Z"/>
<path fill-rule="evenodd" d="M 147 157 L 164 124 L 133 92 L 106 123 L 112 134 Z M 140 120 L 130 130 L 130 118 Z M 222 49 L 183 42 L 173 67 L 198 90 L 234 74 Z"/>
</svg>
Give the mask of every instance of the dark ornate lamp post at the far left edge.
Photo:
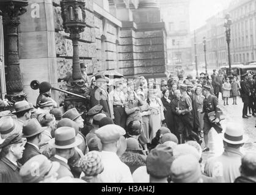
<svg viewBox="0 0 256 195">
<path fill-rule="evenodd" d="M 20 16 L 27 10 L 27 0 L 1 0 L 0 10 L 4 27 L 5 64 L 7 66 L 5 98 L 10 102 L 26 99 L 23 93 L 23 82 L 20 71 L 20 58 L 18 53 L 18 26 Z"/>
</svg>

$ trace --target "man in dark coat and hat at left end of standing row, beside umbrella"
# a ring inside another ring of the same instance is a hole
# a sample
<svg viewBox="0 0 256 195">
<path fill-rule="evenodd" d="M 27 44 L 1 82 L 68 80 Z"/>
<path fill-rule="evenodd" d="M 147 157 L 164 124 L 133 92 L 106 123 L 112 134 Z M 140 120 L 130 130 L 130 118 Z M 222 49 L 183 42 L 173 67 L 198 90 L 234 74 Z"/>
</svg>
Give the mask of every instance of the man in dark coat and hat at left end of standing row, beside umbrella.
<svg viewBox="0 0 256 195">
<path fill-rule="evenodd" d="M 95 105 L 102 105 L 103 112 L 106 116 L 110 118 L 114 118 L 114 113 L 111 112 L 111 108 L 109 106 L 109 97 L 107 92 L 107 82 L 105 76 L 95 76 L 96 79 L 96 86 L 92 90 L 92 96 L 90 96 L 90 104 L 93 106 Z"/>
</svg>

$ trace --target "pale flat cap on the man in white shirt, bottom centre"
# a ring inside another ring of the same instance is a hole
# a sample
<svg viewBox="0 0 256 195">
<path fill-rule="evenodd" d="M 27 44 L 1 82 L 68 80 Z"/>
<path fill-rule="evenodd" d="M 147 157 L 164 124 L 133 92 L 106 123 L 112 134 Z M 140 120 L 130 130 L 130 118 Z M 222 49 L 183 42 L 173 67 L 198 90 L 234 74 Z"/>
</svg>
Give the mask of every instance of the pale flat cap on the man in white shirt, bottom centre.
<svg viewBox="0 0 256 195">
<path fill-rule="evenodd" d="M 121 136 L 125 135 L 125 133 L 125 129 L 115 124 L 108 124 L 95 131 L 95 134 L 100 138 L 101 143 L 104 144 L 118 141 Z"/>
</svg>

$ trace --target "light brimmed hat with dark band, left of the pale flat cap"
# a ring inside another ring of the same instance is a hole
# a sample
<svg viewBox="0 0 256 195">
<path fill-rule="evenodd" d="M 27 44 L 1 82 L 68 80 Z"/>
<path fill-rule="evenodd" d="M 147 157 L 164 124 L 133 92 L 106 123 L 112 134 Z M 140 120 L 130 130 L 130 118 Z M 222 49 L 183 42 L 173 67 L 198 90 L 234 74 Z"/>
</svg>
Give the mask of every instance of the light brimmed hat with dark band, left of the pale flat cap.
<svg viewBox="0 0 256 195">
<path fill-rule="evenodd" d="M 81 143 L 82 140 L 76 137 L 75 129 L 72 127 L 59 127 L 54 132 L 54 138 L 49 141 L 49 145 L 57 149 L 69 149 Z"/>
</svg>

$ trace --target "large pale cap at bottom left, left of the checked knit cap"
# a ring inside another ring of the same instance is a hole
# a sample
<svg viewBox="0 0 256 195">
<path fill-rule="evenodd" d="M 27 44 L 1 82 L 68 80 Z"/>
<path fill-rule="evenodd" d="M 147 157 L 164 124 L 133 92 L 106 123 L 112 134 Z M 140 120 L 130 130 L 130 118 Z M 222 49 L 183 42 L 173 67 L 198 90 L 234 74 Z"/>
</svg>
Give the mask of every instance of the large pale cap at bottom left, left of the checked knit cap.
<svg viewBox="0 0 256 195">
<path fill-rule="evenodd" d="M 51 161 L 45 155 L 39 154 L 30 158 L 20 169 L 20 176 L 24 183 L 39 183 L 46 177 L 57 172 L 60 163 Z M 37 173 L 37 174 L 33 174 Z"/>
</svg>

